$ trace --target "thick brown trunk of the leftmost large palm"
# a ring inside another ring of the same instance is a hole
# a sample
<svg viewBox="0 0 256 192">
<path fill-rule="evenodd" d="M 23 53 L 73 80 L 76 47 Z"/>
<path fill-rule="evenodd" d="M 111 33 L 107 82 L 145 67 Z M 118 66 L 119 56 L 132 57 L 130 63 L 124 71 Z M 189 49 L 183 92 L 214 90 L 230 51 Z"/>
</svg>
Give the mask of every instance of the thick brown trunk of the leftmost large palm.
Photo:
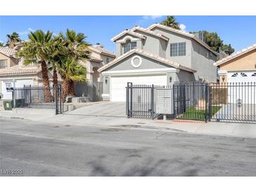
<svg viewBox="0 0 256 192">
<path fill-rule="evenodd" d="M 43 78 L 43 88 L 45 88 L 44 100 L 45 102 L 50 102 L 50 83 L 48 78 L 48 69 L 47 69 L 45 60 L 41 61 L 41 69 L 42 69 L 42 78 Z"/>
</svg>

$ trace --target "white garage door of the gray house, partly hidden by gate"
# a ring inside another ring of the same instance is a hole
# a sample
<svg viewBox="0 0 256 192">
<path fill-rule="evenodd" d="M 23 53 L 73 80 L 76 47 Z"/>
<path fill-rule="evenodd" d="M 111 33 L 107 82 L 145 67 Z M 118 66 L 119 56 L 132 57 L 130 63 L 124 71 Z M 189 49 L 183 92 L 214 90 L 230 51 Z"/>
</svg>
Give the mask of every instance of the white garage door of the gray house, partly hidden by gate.
<svg viewBox="0 0 256 192">
<path fill-rule="evenodd" d="M 110 100 L 112 102 L 126 101 L 126 86 L 131 82 L 133 85 L 166 85 L 166 74 L 148 76 L 112 76 L 110 83 Z"/>
</svg>

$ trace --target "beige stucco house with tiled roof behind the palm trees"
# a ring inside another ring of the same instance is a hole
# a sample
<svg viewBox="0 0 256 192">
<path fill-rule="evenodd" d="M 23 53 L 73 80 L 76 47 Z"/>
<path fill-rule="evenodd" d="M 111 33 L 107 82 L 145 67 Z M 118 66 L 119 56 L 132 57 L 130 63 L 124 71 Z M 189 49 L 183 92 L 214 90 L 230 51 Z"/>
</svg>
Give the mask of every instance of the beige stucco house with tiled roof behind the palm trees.
<svg viewBox="0 0 256 192">
<path fill-rule="evenodd" d="M 86 78 L 89 82 L 100 82 L 102 76 L 97 71 L 100 67 L 108 62 L 111 62 L 116 57 L 101 45 L 90 46 L 90 60 L 81 62 L 83 67 L 86 67 Z M 39 64 L 25 65 L 23 60 L 18 60 L 15 55 L 16 48 L 0 48 L 0 93 L 4 95 L 4 99 L 11 99 L 12 93 L 8 92 L 6 88 L 19 88 L 24 85 L 41 86 L 42 74 Z M 48 73 L 50 85 L 53 85 L 53 74 Z M 58 76 L 58 81 L 62 79 Z M 76 90 L 84 92 L 85 85 L 79 85 Z M 79 93 L 79 94 L 80 94 Z"/>
</svg>

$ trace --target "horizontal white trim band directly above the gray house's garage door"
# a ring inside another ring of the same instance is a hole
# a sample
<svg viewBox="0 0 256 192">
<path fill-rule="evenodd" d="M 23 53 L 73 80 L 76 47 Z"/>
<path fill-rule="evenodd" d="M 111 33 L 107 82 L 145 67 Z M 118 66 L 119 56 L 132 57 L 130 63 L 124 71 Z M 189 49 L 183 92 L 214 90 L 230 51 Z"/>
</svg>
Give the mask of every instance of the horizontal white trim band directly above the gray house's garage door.
<svg viewBox="0 0 256 192">
<path fill-rule="evenodd" d="M 170 73 L 178 73 L 180 69 L 176 68 L 166 68 L 166 69 L 135 69 L 135 70 L 120 70 L 120 71 L 103 71 L 102 75 L 134 75 L 134 74 L 166 74 Z"/>
</svg>

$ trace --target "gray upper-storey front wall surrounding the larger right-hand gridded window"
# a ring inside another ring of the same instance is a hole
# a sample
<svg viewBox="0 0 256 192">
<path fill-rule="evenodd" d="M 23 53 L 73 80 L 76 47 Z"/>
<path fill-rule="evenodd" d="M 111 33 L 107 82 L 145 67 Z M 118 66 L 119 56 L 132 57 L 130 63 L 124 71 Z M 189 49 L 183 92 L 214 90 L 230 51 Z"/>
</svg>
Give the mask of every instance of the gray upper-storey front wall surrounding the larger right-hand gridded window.
<svg viewBox="0 0 256 192">
<path fill-rule="evenodd" d="M 164 36 L 167 36 L 169 38 L 165 53 L 166 59 L 178 62 L 185 67 L 191 68 L 191 39 L 189 39 L 189 37 L 184 37 L 180 34 L 169 32 L 166 29 L 154 28 L 153 31 L 158 32 L 159 34 L 163 34 Z M 170 43 L 182 42 L 186 42 L 186 56 L 170 57 Z"/>
</svg>

